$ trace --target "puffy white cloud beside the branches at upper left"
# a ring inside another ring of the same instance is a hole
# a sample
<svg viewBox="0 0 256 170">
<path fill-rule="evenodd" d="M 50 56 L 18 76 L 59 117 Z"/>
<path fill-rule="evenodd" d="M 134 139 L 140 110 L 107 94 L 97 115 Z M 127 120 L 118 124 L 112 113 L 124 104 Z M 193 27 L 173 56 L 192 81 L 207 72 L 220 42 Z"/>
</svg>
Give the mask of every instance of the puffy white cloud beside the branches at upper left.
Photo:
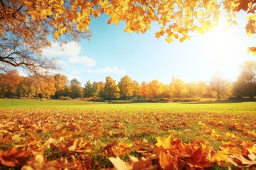
<svg viewBox="0 0 256 170">
<path fill-rule="evenodd" d="M 43 50 L 43 55 L 46 56 L 56 56 L 56 57 L 67 57 L 68 62 L 74 64 L 83 64 L 87 67 L 95 66 L 96 62 L 90 57 L 80 56 L 81 46 L 76 42 L 68 42 L 62 47 L 58 45 L 58 42 L 53 42 L 51 47 Z"/>
</svg>

